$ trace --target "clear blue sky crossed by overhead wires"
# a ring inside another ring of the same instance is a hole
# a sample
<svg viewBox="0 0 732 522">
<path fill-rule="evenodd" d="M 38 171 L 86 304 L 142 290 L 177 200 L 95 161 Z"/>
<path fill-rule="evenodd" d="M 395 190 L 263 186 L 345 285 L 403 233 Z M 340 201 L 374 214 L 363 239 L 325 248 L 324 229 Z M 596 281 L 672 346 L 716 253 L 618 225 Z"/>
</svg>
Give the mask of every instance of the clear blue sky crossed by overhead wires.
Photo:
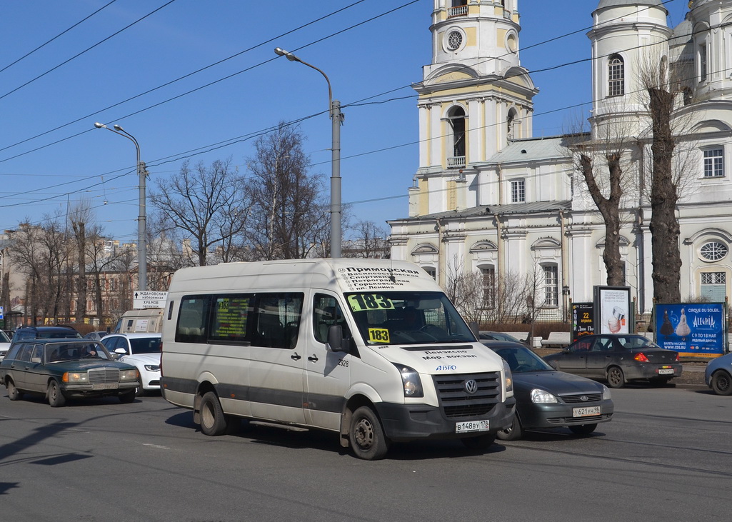
<svg viewBox="0 0 732 522">
<path fill-rule="evenodd" d="M 251 136 L 321 113 L 301 129 L 313 172 L 324 174 L 327 186 L 326 83 L 318 72 L 278 58 L 275 47 L 324 70 L 344 105 L 343 202 L 354 218 L 386 229 L 384 221 L 408 215 L 407 188 L 419 166 L 410 86 L 431 59 L 433 0 L 168 2 L 0 4 L 0 230 L 37 223 L 83 198 L 107 234 L 135 240 L 135 147 L 95 129 L 97 121 L 137 138 L 150 191 L 184 158 L 205 164 L 231 158 L 245 172 Z M 535 136 L 559 134 L 589 110 L 576 106 L 591 101 L 586 32 L 597 3 L 519 2 L 521 64 L 539 88 Z M 665 6 L 676 26 L 687 0 Z"/>
</svg>

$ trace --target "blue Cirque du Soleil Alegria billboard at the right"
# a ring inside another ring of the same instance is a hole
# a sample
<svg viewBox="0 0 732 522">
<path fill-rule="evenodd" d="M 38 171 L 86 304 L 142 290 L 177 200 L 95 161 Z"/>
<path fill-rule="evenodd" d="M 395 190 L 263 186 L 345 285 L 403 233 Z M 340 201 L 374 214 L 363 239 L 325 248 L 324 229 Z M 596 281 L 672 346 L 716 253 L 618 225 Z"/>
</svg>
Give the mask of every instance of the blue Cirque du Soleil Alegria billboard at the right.
<svg viewBox="0 0 732 522">
<path fill-rule="evenodd" d="M 657 304 L 656 344 L 690 357 L 717 357 L 725 353 L 725 305 L 721 302 Z"/>
</svg>

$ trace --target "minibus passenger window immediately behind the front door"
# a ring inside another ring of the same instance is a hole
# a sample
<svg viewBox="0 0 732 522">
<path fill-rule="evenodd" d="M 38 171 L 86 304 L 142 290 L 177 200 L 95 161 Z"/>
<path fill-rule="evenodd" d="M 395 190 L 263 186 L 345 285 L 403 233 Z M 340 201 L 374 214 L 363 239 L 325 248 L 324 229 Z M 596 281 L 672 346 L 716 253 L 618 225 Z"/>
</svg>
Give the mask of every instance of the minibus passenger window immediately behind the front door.
<svg viewBox="0 0 732 522">
<path fill-rule="evenodd" d="M 305 294 L 257 294 L 252 345 L 294 348 L 300 330 Z"/>
</svg>

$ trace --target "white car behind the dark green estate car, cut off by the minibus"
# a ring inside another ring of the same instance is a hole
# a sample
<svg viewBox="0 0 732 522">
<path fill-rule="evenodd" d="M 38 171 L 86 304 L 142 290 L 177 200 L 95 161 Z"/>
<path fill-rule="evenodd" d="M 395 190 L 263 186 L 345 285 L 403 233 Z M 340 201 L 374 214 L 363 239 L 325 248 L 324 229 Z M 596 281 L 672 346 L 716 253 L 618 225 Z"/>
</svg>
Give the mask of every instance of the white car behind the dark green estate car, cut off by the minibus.
<svg viewBox="0 0 732 522">
<path fill-rule="evenodd" d="M 138 395 L 160 389 L 160 334 L 127 333 L 105 335 L 100 341 L 111 354 L 118 354 L 118 361 L 134 365 L 140 371 L 142 381 Z"/>
</svg>

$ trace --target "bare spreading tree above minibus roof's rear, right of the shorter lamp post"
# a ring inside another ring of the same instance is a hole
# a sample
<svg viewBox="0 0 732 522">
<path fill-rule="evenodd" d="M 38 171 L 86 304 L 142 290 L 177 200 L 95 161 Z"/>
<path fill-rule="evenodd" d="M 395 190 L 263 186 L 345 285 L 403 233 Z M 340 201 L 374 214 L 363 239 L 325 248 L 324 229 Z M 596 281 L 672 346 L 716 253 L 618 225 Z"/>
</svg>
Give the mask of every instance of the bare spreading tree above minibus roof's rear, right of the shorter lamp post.
<svg viewBox="0 0 732 522">
<path fill-rule="evenodd" d="M 209 249 L 225 247 L 244 230 L 242 179 L 231 169 L 231 160 L 216 160 L 210 167 L 185 162 L 179 175 L 160 179 L 150 201 L 160 213 L 165 231 L 178 228 L 193 238 L 191 247 L 198 265 L 206 265 Z"/>
</svg>

